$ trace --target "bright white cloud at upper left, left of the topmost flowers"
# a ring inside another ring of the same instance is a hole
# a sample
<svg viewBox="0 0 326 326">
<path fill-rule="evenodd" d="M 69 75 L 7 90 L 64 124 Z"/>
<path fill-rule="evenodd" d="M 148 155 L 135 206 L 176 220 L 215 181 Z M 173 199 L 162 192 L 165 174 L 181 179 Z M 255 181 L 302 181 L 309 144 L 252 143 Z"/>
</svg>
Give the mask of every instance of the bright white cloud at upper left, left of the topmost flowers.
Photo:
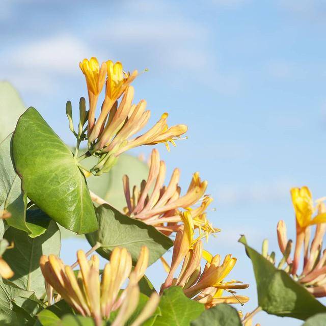
<svg viewBox="0 0 326 326">
<path fill-rule="evenodd" d="M 78 62 L 92 55 L 82 39 L 59 34 L 6 49 L 0 68 L 2 78 L 21 91 L 54 94 L 60 78 L 80 74 Z"/>
</svg>

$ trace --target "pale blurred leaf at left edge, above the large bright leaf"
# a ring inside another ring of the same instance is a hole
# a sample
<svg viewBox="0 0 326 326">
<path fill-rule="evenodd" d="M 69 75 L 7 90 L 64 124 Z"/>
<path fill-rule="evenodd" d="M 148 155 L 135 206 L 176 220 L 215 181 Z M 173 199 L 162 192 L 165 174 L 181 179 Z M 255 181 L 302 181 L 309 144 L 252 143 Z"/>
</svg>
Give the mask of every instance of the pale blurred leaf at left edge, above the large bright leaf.
<svg viewBox="0 0 326 326">
<path fill-rule="evenodd" d="M 15 130 L 18 118 L 25 110 L 13 86 L 8 82 L 0 82 L 0 142 Z"/>
</svg>

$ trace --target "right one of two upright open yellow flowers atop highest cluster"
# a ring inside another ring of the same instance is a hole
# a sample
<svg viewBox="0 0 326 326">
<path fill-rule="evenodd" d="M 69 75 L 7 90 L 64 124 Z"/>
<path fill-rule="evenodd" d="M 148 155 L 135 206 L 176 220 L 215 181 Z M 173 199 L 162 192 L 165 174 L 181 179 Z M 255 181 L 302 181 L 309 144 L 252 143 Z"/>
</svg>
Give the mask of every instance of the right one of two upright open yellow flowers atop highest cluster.
<svg viewBox="0 0 326 326">
<path fill-rule="evenodd" d="M 92 131 L 89 142 L 94 142 L 104 127 L 104 122 L 117 99 L 123 94 L 126 88 L 137 77 L 138 71 L 134 70 L 131 74 L 124 72 L 121 62 L 113 63 L 106 61 L 107 79 L 105 84 L 105 98 L 102 104 L 101 113 L 98 117 L 94 130 Z"/>
</svg>

